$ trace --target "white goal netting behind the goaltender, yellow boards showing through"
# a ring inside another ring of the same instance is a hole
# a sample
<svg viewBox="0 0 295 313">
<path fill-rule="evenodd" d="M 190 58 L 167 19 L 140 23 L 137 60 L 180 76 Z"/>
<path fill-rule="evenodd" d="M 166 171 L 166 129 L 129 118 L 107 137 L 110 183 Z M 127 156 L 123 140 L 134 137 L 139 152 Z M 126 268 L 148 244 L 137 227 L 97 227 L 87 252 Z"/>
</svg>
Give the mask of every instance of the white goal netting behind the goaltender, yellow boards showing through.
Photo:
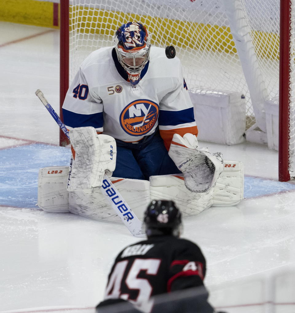
<svg viewBox="0 0 295 313">
<path fill-rule="evenodd" d="M 120 25 L 137 21 L 153 45 L 175 46 L 189 89 L 240 92 L 245 130 L 266 132 L 263 105 L 279 90 L 279 18 L 279 0 L 70 0 L 70 81 Z"/>
</svg>

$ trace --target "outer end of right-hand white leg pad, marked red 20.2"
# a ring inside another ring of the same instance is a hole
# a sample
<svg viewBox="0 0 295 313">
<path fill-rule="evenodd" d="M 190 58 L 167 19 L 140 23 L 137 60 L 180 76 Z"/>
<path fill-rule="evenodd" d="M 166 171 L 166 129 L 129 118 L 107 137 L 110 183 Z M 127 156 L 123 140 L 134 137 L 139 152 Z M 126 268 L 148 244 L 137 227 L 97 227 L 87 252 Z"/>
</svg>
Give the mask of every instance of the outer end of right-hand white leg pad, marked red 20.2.
<svg viewBox="0 0 295 313">
<path fill-rule="evenodd" d="M 244 168 L 239 161 L 224 161 L 224 170 L 214 186 L 214 206 L 232 206 L 244 198 Z"/>
</svg>

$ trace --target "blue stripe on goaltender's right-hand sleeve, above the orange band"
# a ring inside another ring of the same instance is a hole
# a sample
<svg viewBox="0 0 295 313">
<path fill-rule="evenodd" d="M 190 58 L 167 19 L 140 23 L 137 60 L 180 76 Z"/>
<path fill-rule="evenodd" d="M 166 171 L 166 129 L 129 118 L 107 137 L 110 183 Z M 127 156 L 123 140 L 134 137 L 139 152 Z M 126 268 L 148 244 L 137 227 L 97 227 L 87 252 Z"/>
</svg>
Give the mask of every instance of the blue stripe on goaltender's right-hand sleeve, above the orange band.
<svg viewBox="0 0 295 313">
<path fill-rule="evenodd" d="M 180 111 L 164 111 L 160 110 L 159 125 L 180 125 L 194 122 L 194 108 L 189 108 Z"/>
</svg>

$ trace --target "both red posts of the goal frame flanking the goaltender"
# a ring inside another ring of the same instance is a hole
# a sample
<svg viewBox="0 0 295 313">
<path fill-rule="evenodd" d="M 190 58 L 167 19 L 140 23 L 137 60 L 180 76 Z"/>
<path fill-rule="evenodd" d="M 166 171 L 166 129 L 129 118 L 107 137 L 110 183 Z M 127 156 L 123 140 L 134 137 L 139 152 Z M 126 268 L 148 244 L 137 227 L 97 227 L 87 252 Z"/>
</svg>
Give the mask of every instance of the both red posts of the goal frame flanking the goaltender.
<svg viewBox="0 0 295 313">
<path fill-rule="evenodd" d="M 290 178 L 289 123 L 290 123 L 290 31 L 291 0 L 280 0 L 280 46 L 279 46 L 279 130 L 278 130 L 278 180 Z M 69 88 L 69 0 L 60 2 L 60 117 L 63 121 L 62 104 Z M 60 146 L 69 144 L 60 132 Z"/>
</svg>

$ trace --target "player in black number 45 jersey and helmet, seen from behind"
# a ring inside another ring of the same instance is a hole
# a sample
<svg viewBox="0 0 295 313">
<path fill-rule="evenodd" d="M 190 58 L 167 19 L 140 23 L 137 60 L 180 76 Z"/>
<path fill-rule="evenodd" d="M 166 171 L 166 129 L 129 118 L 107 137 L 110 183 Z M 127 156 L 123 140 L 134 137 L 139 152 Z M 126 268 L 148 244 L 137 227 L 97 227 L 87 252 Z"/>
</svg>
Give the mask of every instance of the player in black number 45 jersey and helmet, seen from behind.
<svg viewBox="0 0 295 313">
<path fill-rule="evenodd" d="M 179 238 L 181 213 L 175 203 L 152 201 L 144 227 L 147 240 L 118 254 L 96 312 L 214 312 L 203 284 L 204 255 L 196 244 Z"/>
</svg>

